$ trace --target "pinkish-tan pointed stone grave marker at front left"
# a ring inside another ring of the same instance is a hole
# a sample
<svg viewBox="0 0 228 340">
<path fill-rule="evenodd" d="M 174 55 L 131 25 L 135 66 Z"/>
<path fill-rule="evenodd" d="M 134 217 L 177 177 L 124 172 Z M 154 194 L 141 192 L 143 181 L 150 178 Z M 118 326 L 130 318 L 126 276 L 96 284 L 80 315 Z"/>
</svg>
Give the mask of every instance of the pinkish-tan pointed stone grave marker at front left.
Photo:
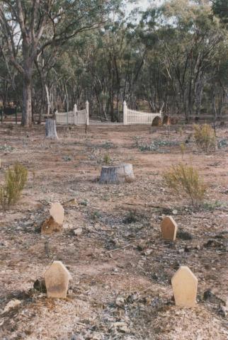
<svg viewBox="0 0 228 340">
<path fill-rule="evenodd" d="M 47 297 L 67 297 L 68 283 L 71 275 L 61 261 L 54 261 L 45 272 Z"/>
</svg>

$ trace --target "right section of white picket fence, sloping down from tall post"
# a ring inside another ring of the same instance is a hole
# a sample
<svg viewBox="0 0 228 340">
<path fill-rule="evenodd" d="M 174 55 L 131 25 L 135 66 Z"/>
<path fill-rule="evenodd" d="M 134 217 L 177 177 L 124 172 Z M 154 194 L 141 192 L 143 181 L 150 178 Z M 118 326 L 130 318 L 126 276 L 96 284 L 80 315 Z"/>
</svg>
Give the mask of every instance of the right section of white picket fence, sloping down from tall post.
<svg viewBox="0 0 228 340">
<path fill-rule="evenodd" d="M 123 124 L 124 125 L 132 125 L 132 124 L 152 124 L 153 119 L 156 116 L 162 118 L 162 113 L 152 113 L 145 111 L 136 111 L 127 108 L 127 103 L 124 101 L 123 103 Z"/>
</svg>

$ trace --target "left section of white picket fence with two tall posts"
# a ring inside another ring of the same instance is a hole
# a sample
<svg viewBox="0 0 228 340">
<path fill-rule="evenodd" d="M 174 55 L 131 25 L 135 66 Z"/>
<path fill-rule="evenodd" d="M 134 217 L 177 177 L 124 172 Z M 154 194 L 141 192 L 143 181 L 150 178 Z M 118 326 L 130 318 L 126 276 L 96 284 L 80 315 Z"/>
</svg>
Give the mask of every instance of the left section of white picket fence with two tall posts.
<svg viewBox="0 0 228 340">
<path fill-rule="evenodd" d="M 58 112 L 55 114 L 56 123 L 61 125 L 89 125 L 89 102 L 86 101 L 86 108 L 78 110 L 74 104 L 73 111 Z"/>
</svg>

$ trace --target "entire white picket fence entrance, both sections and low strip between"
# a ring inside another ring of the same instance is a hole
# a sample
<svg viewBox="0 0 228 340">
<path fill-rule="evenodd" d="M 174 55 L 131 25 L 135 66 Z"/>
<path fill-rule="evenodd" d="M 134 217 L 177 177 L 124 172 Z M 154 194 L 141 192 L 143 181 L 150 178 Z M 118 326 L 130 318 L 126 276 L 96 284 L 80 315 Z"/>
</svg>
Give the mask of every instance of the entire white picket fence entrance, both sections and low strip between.
<svg viewBox="0 0 228 340">
<path fill-rule="evenodd" d="M 98 120 L 91 120 L 89 122 L 89 102 L 86 101 L 86 108 L 84 110 L 77 110 L 76 104 L 74 104 L 73 111 L 56 113 L 56 123 L 61 125 L 133 125 L 133 124 L 147 124 L 151 125 L 154 117 L 159 116 L 162 118 L 161 111 L 159 113 L 135 111 L 127 108 L 127 103 L 123 103 L 123 122 L 111 123 L 100 122 Z"/>
</svg>

